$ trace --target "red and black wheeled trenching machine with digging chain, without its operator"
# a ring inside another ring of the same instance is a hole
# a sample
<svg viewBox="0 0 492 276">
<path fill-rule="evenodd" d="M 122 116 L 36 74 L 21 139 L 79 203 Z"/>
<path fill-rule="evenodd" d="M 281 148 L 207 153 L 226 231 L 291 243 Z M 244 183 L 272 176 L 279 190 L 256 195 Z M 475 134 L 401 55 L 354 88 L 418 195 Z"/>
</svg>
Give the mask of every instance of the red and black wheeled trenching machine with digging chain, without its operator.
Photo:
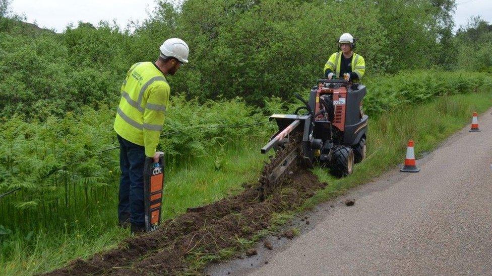
<svg viewBox="0 0 492 276">
<path fill-rule="evenodd" d="M 304 105 L 294 114 L 273 114 L 278 132 L 261 152 L 276 151 L 260 177 L 266 197 L 282 177 L 297 166 L 328 167 L 337 177 L 349 175 L 354 163 L 366 155 L 368 116 L 362 113 L 361 101 L 366 94 L 362 84 L 344 79 L 319 79 L 309 101 L 298 94 Z"/>
</svg>

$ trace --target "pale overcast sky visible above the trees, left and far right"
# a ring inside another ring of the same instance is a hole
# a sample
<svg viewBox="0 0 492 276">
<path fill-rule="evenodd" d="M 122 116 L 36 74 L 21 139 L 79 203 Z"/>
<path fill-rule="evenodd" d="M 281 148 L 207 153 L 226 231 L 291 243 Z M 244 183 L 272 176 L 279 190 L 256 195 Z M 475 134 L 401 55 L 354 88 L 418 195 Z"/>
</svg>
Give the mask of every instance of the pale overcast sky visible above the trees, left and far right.
<svg viewBox="0 0 492 276">
<path fill-rule="evenodd" d="M 112 21 L 125 28 L 129 20 L 143 21 L 154 10 L 155 0 L 13 0 L 12 10 L 24 14 L 27 22 L 63 32 L 69 23 L 84 21 L 97 25 L 100 20 Z M 466 24 L 470 16 L 480 15 L 492 22 L 492 0 L 457 0 L 456 26 Z"/>
</svg>

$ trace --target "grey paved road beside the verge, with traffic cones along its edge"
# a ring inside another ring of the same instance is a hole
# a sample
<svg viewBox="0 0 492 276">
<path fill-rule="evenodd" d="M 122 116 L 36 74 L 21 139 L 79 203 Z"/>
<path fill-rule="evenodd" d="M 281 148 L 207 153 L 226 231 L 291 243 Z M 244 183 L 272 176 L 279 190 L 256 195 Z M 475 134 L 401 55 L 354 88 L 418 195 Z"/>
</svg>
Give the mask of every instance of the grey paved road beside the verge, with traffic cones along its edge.
<svg viewBox="0 0 492 276">
<path fill-rule="evenodd" d="M 419 173 L 395 168 L 318 206 L 309 226 L 294 221 L 293 240 L 268 237 L 274 250 L 259 245 L 257 256 L 206 273 L 492 275 L 492 115 L 478 119 L 482 132 L 467 126 L 418 160 Z"/>
</svg>

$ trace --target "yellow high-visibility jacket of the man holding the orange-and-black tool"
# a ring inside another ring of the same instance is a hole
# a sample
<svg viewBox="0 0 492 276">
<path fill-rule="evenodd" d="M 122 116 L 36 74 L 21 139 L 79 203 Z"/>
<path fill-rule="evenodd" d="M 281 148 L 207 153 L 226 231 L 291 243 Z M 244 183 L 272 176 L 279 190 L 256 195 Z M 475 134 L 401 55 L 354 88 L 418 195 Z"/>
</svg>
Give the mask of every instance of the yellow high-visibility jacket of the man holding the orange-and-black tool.
<svg viewBox="0 0 492 276">
<path fill-rule="evenodd" d="M 159 143 L 171 88 L 152 62 L 134 64 L 121 85 L 114 130 L 122 138 L 145 147 L 152 157 Z"/>
</svg>

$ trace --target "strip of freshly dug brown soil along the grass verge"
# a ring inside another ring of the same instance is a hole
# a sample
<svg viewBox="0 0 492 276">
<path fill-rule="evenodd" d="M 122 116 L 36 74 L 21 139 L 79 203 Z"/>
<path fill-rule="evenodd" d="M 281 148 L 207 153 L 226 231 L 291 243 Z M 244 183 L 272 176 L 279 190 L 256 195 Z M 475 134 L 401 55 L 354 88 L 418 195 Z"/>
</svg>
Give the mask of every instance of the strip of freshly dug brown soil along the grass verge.
<svg viewBox="0 0 492 276">
<path fill-rule="evenodd" d="M 273 213 L 295 209 L 327 184 L 320 183 L 314 174 L 301 168 L 283 179 L 264 201 L 261 201 L 258 185 L 245 185 L 251 188 L 237 196 L 190 209 L 163 222 L 155 232 L 128 238 L 118 248 L 87 260 L 76 259 L 46 275 L 135 276 L 190 272 L 188 266 L 193 260 L 224 248 L 239 248 L 238 238 L 251 238 L 270 226 Z"/>
</svg>

